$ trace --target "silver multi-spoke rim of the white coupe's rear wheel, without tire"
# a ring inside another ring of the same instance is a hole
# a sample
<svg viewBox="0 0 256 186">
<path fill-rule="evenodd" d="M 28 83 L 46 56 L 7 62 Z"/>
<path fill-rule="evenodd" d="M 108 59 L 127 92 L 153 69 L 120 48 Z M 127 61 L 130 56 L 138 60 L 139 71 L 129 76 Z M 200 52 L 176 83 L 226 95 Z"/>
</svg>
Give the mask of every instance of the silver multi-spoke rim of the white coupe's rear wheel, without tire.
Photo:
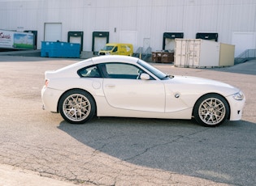
<svg viewBox="0 0 256 186">
<path fill-rule="evenodd" d="M 91 104 L 85 95 L 72 94 L 63 101 L 63 114 L 69 120 L 85 120 L 91 112 Z"/>
</svg>

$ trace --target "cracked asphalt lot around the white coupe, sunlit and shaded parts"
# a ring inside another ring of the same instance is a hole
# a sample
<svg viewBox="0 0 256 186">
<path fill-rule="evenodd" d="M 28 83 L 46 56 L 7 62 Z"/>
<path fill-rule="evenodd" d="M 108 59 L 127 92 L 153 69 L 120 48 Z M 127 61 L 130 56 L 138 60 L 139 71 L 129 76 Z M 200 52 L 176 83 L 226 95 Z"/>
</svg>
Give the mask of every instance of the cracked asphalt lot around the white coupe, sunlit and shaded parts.
<svg viewBox="0 0 256 186">
<path fill-rule="evenodd" d="M 46 70 L 76 61 L 0 56 L 0 164 L 78 185 L 256 184 L 256 61 L 217 69 L 154 64 L 245 92 L 242 120 L 216 128 L 115 117 L 70 125 L 41 109 L 41 87 Z"/>
</svg>

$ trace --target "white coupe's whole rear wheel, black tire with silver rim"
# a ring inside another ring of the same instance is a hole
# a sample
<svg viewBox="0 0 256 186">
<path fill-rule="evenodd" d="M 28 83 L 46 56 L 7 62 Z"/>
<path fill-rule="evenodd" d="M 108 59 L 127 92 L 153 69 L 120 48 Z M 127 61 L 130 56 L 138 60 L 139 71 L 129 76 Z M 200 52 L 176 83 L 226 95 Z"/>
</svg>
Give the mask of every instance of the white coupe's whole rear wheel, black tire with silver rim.
<svg viewBox="0 0 256 186">
<path fill-rule="evenodd" d="M 93 118 L 96 104 L 86 91 L 67 91 L 59 99 L 59 112 L 64 120 L 72 124 L 84 124 Z"/>
</svg>

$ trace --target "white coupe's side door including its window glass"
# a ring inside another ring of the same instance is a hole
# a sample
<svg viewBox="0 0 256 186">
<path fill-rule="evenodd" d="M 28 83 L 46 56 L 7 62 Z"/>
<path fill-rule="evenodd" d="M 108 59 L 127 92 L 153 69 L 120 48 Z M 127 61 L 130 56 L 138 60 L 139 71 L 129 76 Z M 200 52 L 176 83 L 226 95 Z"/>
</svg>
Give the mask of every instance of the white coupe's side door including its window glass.
<svg viewBox="0 0 256 186">
<path fill-rule="evenodd" d="M 161 81 L 138 78 L 137 66 L 124 63 L 106 64 L 109 78 L 103 79 L 103 91 L 113 108 L 164 112 L 165 91 Z"/>
</svg>

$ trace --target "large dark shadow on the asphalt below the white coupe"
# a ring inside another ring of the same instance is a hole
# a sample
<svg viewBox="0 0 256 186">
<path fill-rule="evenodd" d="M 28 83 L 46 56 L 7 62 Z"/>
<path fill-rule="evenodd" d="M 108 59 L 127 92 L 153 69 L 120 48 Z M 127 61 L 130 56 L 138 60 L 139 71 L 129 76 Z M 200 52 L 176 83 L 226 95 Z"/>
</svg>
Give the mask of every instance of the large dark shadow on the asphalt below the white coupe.
<svg viewBox="0 0 256 186">
<path fill-rule="evenodd" d="M 128 163 L 228 184 L 255 181 L 256 125 L 244 120 L 206 128 L 193 120 L 102 117 L 85 125 L 63 121 L 59 129 Z"/>
</svg>

